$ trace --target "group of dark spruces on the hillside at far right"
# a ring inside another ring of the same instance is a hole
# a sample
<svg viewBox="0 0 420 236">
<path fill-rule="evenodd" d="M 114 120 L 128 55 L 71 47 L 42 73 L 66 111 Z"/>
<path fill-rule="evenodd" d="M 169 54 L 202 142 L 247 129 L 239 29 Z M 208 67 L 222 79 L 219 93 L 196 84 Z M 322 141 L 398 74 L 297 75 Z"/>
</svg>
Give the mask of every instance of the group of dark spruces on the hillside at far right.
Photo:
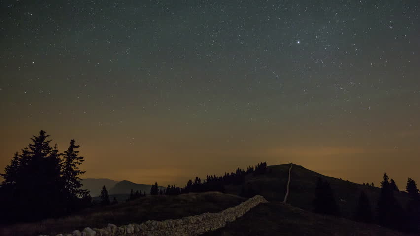
<svg viewBox="0 0 420 236">
<path fill-rule="evenodd" d="M 373 187 L 374 184 L 365 184 Z M 416 182 L 408 178 L 405 188 L 410 200 L 404 208 L 395 198 L 399 189 L 393 179 L 384 173 L 381 181 L 381 192 L 376 204 L 376 212 L 372 212 L 368 195 L 361 191 L 354 220 L 364 223 L 378 223 L 381 226 L 409 233 L 420 233 L 420 192 Z M 339 216 L 339 208 L 334 191 L 328 181 L 318 179 L 315 188 L 313 207 L 316 213 Z"/>
</svg>

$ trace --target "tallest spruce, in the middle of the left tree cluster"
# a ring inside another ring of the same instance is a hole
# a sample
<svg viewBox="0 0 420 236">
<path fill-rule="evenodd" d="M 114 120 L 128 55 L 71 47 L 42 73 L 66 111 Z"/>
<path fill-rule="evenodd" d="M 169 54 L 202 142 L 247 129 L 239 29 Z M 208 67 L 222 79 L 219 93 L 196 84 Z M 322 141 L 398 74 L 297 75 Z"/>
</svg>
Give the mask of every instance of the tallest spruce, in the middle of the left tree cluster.
<svg viewBox="0 0 420 236">
<path fill-rule="evenodd" d="M 31 138 L 26 165 L 19 173 L 15 200 L 22 211 L 31 211 L 32 219 L 55 217 L 65 213 L 63 205 L 63 181 L 60 172 L 60 159 L 57 146 L 50 146 L 49 135 L 41 130 Z"/>
</svg>

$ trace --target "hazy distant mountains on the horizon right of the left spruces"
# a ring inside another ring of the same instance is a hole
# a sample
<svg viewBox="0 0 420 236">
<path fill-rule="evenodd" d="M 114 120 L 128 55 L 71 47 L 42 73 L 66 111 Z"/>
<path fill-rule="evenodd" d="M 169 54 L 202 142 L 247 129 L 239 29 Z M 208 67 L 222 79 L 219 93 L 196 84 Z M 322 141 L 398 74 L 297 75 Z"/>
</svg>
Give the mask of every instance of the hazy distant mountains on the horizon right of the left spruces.
<svg viewBox="0 0 420 236">
<path fill-rule="evenodd" d="M 99 196 L 104 185 L 106 189 L 108 189 L 108 193 L 112 195 L 130 194 L 131 189 L 133 189 L 134 192 L 139 190 L 142 193 L 144 193 L 144 191 L 150 193 L 150 188 L 152 186 L 149 184 L 133 183 L 128 180 L 118 182 L 108 178 L 85 178 L 82 179 L 82 184 L 82 188 L 88 189 L 92 197 Z M 165 189 L 165 187 L 162 186 L 158 186 L 158 188 Z"/>
</svg>

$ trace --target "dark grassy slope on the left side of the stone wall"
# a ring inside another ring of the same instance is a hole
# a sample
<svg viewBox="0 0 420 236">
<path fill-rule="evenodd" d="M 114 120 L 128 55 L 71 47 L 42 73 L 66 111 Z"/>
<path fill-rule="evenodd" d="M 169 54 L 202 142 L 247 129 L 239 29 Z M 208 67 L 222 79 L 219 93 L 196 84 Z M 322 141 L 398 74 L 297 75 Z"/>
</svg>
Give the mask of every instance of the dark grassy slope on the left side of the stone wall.
<svg viewBox="0 0 420 236">
<path fill-rule="evenodd" d="M 145 196 L 127 203 L 86 209 L 78 214 L 41 222 L 0 226 L 2 236 L 56 235 L 103 228 L 108 223 L 117 226 L 146 220 L 179 219 L 205 212 L 219 212 L 245 201 L 244 198 L 219 192 L 189 193 L 178 196 Z M 31 212 L 28 212 L 30 214 Z"/>
</svg>

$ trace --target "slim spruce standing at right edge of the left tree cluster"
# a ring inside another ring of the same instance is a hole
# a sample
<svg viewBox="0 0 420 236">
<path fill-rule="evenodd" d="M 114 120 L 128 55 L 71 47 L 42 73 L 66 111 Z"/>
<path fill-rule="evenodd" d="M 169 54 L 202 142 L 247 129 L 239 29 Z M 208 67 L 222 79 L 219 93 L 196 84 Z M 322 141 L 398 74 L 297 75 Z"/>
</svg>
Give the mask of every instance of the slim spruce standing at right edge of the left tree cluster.
<svg viewBox="0 0 420 236">
<path fill-rule="evenodd" d="M 85 171 L 79 170 L 78 167 L 84 161 L 82 156 L 78 156 L 79 151 L 76 149 L 79 147 L 74 139 L 70 140 L 70 146 L 64 151 L 61 162 L 62 176 L 69 199 L 77 199 L 88 192 L 85 189 L 80 189 L 82 187 L 80 175 L 84 174 Z"/>
</svg>

